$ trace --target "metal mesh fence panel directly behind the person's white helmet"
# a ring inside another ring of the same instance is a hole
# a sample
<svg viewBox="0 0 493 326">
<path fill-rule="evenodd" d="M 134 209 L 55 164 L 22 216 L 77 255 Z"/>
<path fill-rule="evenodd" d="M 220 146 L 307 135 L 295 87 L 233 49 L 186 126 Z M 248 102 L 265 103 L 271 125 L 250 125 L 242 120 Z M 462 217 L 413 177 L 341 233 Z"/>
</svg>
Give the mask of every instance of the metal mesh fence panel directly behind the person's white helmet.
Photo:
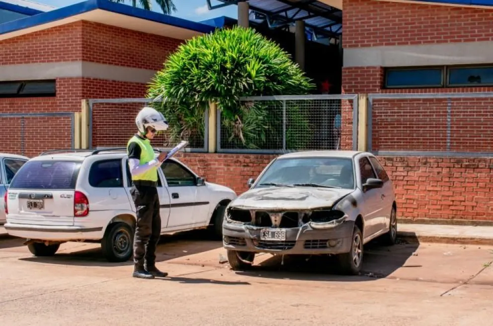
<svg viewBox="0 0 493 326">
<path fill-rule="evenodd" d="M 152 140 L 153 146 L 170 149 L 179 141 L 187 140 L 189 145 L 185 151 L 207 151 L 208 108 L 186 108 L 172 100 L 155 101 L 146 98 L 91 99 L 88 105 L 90 148 L 125 147 L 130 137 L 137 132 L 137 113 L 148 105 L 161 111 L 169 123 L 169 129 L 157 134 Z"/>
</svg>

